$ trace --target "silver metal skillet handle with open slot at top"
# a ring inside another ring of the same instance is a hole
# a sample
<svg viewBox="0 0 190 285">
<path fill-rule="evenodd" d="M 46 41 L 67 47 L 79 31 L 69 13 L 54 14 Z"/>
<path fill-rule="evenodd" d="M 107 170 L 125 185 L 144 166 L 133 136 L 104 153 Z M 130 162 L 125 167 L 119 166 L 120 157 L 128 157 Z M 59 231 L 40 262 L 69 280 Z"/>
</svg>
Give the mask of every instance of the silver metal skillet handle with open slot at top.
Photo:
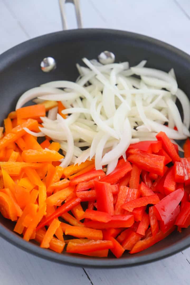
<svg viewBox="0 0 190 285">
<path fill-rule="evenodd" d="M 75 13 L 77 18 L 77 26 L 78 28 L 82 28 L 82 20 L 81 20 L 81 11 L 80 11 L 80 0 L 59 0 L 60 12 L 61 12 L 61 20 L 63 30 L 68 30 L 67 20 L 66 20 L 66 3 L 73 3 L 75 6 Z"/>
</svg>

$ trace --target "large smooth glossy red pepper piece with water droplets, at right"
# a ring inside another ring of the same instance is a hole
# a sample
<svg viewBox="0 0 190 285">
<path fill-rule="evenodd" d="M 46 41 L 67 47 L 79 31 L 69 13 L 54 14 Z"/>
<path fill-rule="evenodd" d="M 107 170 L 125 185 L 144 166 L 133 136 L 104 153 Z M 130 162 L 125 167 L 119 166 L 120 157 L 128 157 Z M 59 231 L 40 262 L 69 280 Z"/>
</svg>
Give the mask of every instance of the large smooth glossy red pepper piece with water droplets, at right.
<svg viewBox="0 0 190 285">
<path fill-rule="evenodd" d="M 159 221 L 167 220 L 167 217 L 173 213 L 177 205 L 179 205 L 183 198 L 184 190 L 179 188 L 167 195 L 158 204 L 154 206 L 156 217 Z"/>
</svg>

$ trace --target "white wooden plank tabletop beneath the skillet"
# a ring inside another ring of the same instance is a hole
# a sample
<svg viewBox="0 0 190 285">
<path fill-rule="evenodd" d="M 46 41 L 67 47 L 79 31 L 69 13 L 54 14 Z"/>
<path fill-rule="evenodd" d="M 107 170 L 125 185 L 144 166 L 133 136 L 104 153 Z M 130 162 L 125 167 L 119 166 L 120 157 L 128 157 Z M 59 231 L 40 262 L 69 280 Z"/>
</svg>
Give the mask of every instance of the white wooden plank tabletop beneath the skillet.
<svg viewBox="0 0 190 285">
<path fill-rule="evenodd" d="M 72 4 L 68 24 L 76 27 Z M 146 34 L 190 54 L 190 0 L 81 0 L 83 27 Z M 30 38 L 61 30 L 57 0 L 0 0 L 0 54 Z M 122 269 L 65 266 L 0 238 L 0 285 L 190 284 L 190 248 L 151 264 Z"/>
</svg>

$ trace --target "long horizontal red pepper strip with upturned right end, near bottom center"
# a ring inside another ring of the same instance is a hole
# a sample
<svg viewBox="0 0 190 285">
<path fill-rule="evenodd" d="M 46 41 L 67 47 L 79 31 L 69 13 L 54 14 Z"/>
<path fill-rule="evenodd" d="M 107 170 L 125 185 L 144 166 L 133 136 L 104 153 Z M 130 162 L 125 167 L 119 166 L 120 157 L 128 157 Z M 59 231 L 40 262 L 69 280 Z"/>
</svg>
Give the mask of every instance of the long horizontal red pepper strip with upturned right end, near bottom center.
<svg viewBox="0 0 190 285">
<path fill-rule="evenodd" d="M 113 220 L 107 223 L 101 223 L 96 221 L 85 222 L 85 227 L 93 229 L 109 229 L 109 228 L 128 228 L 134 223 L 133 215 L 126 215 L 125 220 Z"/>
</svg>

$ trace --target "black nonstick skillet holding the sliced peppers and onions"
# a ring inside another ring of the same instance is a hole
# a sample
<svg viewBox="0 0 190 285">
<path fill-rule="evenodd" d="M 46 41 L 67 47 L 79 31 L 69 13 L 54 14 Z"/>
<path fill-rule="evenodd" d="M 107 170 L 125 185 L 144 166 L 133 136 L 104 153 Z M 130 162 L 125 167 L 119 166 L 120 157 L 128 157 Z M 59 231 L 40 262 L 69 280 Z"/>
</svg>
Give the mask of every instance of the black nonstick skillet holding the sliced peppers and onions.
<svg viewBox="0 0 190 285">
<path fill-rule="evenodd" d="M 78 29 L 55 32 L 28 40 L 0 55 L 1 122 L 15 109 L 19 96 L 26 90 L 54 80 L 75 81 L 76 62 L 81 58 L 97 58 L 104 50 L 115 54 L 115 62 L 129 61 L 135 65 L 143 59 L 147 66 L 168 72 L 172 67 L 179 87 L 190 98 L 190 56 L 181 50 L 140 34 L 106 29 Z M 43 58 L 51 56 L 57 68 L 49 73 L 40 69 Z M 14 223 L 0 216 L 0 235 L 21 249 L 40 257 L 70 265 L 93 267 L 132 266 L 175 254 L 190 245 L 190 227 L 182 233 L 173 232 L 153 247 L 117 259 L 90 258 L 82 255 L 55 253 L 42 249 L 34 241 L 26 242 L 13 232 Z"/>
</svg>

